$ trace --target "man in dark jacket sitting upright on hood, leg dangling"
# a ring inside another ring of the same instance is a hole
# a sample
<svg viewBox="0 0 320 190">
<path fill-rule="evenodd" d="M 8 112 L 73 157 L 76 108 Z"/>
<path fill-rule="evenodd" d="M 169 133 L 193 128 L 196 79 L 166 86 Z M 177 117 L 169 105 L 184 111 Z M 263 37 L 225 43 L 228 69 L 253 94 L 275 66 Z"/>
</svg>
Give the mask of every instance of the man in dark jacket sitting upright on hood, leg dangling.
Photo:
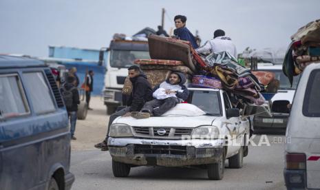
<svg viewBox="0 0 320 190">
<path fill-rule="evenodd" d="M 130 116 L 131 112 L 139 112 L 140 109 L 147 103 L 147 101 L 152 100 L 152 88 L 150 83 L 147 81 L 147 76 L 142 73 L 140 68 L 133 65 L 128 68 L 128 76 L 132 83 L 132 92 L 130 94 L 129 100 L 127 101 L 127 107 L 121 109 L 120 111 L 112 114 L 109 118 L 107 137 L 103 142 L 100 142 L 94 147 L 101 149 L 101 151 L 107 151 L 107 140 L 109 137 L 109 129 L 112 122 L 118 118 L 118 116 Z"/>
</svg>

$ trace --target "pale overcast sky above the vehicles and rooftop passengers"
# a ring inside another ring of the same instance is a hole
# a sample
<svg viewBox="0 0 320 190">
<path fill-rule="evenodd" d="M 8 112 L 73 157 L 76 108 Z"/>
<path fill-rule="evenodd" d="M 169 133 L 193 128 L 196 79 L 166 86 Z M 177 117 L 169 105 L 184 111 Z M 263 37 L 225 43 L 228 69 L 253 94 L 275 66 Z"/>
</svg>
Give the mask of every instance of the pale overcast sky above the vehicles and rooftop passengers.
<svg viewBox="0 0 320 190">
<path fill-rule="evenodd" d="M 114 33 L 156 29 L 162 8 L 167 32 L 173 17 L 184 14 L 202 42 L 221 28 L 238 52 L 286 47 L 301 26 L 320 19 L 319 0 L 0 0 L 0 54 L 48 56 L 48 45 L 100 49 Z"/>
</svg>

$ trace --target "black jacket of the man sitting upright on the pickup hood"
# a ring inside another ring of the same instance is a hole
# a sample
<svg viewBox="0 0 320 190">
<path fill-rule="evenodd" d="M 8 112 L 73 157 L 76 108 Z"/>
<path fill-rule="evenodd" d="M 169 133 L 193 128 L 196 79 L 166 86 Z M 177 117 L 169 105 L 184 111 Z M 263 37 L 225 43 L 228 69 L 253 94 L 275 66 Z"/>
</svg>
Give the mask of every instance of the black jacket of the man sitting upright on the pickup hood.
<svg viewBox="0 0 320 190">
<path fill-rule="evenodd" d="M 139 112 L 147 101 L 152 100 L 152 88 L 145 74 L 130 78 L 130 81 L 133 88 L 127 106 L 130 106 L 129 112 Z"/>
</svg>

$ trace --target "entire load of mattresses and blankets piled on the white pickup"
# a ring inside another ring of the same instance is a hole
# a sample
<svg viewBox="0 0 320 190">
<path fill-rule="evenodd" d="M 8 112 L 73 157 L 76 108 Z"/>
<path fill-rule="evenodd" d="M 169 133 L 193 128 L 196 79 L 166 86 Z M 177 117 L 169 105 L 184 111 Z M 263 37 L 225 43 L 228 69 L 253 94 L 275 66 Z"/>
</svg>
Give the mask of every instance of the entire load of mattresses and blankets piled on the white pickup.
<svg viewBox="0 0 320 190">
<path fill-rule="evenodd" d="M 135 63 L 147 74 L 152 87 L 164 81 L 172 71 L 179 71 L 186 74 L 186 78 L 192 76 L 192 85 L 225 89 L 233 95 L 234 105 L 238 102 L 264 103 L 259 80 L 250 69 L 238 65 L 228 52 L 212 53 L 202 59 L 188 41 L 150 35 L 148 42 L 151 59 L 140 59 Z M 130 87 L 127 79 L 122 93 L 129 94 Z"/>
</svg>

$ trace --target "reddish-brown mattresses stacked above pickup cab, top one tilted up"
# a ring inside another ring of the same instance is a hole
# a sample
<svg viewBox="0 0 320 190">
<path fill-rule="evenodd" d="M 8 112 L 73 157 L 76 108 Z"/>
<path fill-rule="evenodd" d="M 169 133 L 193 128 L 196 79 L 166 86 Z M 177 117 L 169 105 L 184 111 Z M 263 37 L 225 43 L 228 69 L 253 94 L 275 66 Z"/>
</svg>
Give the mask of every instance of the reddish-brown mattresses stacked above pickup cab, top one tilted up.
<svg viewBox="0 0 320 190">
<path fill-rule="evenodd" d="M 148 43 L 151 59 L 137 59 L 134 63 L 140 65 L 151 87 L 165 81 L 174 71 L 184 73 L 187 81 L 191 81 L 197 69 L 191 59 L 190 45 L 153 34 L 149 35 Z M 131 90 L 131 82 L 126 78 L 122 94 L 130 94 Z"/>
</svg>

